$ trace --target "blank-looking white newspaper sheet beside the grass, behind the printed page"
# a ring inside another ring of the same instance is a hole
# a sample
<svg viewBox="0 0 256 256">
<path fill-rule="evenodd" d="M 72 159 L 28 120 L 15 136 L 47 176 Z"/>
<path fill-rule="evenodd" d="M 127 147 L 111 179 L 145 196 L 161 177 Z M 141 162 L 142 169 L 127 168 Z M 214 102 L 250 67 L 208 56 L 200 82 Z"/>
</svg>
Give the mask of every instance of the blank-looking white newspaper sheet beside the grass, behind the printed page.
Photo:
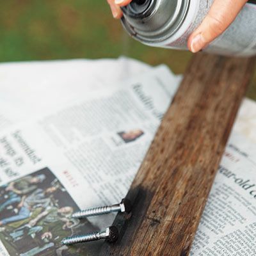
<svg viewBox="0 0 256 256">
<path fill-rule="evenodd" d="M 119 86 L 121 81 L 153 69 L 125 57 L 1 63 L 0 131 L 51 113 L 58 106 L 102 87 Z"/>
</svg>

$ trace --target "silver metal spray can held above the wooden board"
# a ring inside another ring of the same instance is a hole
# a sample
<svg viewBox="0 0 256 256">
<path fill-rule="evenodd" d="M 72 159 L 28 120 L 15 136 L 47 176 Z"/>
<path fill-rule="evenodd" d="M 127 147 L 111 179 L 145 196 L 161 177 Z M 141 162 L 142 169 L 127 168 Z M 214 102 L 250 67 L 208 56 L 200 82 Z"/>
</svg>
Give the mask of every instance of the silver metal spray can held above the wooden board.
<svg viewBox="0 0 256 256">
<path fill-rule="evenodd" d="M 122 24 L 143 44 L 188 49 L 189 35 L 200 25 L 214 0 L 133 0 L 122 8 Z M 228 56 L 256 54 L 256 0 L 248 1 L 236 20 L 206 52 Z"/>
</svg>

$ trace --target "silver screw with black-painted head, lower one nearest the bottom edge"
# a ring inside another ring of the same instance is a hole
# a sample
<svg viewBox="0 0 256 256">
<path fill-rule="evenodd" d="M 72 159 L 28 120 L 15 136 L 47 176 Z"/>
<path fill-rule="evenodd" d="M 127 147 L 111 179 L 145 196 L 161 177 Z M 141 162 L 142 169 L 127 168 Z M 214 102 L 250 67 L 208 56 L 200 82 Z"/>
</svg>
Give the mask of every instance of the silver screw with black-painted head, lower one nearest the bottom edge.
<svg viewBox="0 0 256 256">
<path fill-rule="evenodd" d="M 106 228 L 106 230 L 102 232 L 95 232 L 81 236 L 66 237 L 61 241 L 61 244 L 71 245 L 77 243 L 97 241 L 100 239 L 106 239 L 106 241 L 108 241 L 109 243 L 114 243 L 118 239 L 118 229 L 115 226 L 111 226 Z"/>
</svg>

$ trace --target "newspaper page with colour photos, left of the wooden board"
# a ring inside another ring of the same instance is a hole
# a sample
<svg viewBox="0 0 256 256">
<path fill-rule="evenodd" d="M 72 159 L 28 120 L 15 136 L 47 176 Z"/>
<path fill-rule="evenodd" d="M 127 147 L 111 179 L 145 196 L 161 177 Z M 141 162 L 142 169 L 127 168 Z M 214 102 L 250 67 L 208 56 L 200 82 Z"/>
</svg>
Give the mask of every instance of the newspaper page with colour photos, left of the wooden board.
<svg viewBox="0 0 256 256">
<path fill-rule="evenodd" d="M 179 81 L 161 67 L 1 132 L 0 254 L 97 255 L 97 242 L 61 239 L 115 216 L 79 221 L 72 212 L 125 196 Z"/>
</svg>

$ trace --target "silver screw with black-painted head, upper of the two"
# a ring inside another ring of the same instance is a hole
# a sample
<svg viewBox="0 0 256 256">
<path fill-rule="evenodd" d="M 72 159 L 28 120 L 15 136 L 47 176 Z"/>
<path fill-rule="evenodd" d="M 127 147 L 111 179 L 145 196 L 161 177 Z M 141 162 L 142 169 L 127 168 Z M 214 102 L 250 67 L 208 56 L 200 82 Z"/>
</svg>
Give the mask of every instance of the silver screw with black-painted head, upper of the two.
<svg viewBox="0 0 256 256">
<path fill-rule="evenodd" d="M 120 204 L 114 204 L 114 205 L 97 207 L 97 208 L 87 209 L 84 211 L 74 212 L 74 214 L 72 214 L 72 217 L 81 219 L 81 218 L 86 218 L 89 216 L 107 214 L 109 212 L 127 212 L 127 213 L 129 213 L 129 212 L 131 212 L 131 201 L 127 198 L 124 198 L 120 202 Z"/>
</svg>

